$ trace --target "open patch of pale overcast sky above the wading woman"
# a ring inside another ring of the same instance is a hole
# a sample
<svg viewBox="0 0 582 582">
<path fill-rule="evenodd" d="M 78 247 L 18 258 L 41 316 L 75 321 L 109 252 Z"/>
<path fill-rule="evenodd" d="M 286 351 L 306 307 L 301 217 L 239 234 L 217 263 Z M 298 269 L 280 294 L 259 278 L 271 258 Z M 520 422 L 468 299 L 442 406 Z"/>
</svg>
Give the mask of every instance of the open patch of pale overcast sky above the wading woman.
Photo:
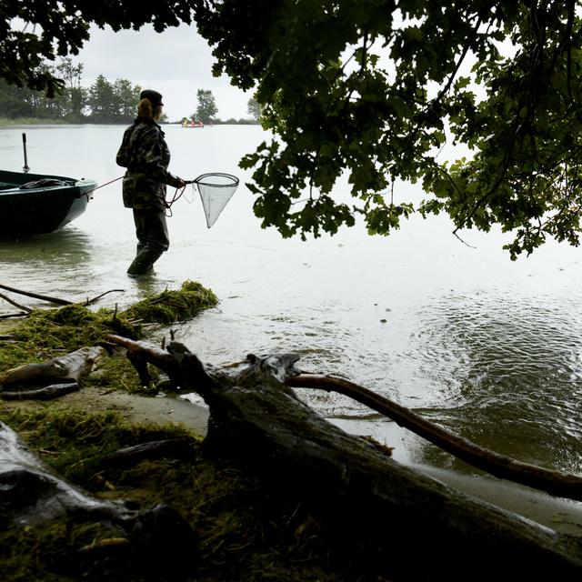
<svg viewBox="0 0 582 582">
<path fill-rule="evenodd" d="M 194 26 L 169 28 L 161 34 L 151 26 L 118 33 L 108 27 L 92 27 L 91 39 L 72 58 L 75 64 L 84 65 L 85 86 L 104 75 L 110 82 L 122 78 L 143 89 L 156 89 L 164 95 L 164 111 L 170 121 L 196 111 L 198 89 L 212 91 L 221 119 L 248 117 L 246 103 L 252 93 L 230 85 L 226 76 L 212 76 L 211 49 Z"/>
</svg>

